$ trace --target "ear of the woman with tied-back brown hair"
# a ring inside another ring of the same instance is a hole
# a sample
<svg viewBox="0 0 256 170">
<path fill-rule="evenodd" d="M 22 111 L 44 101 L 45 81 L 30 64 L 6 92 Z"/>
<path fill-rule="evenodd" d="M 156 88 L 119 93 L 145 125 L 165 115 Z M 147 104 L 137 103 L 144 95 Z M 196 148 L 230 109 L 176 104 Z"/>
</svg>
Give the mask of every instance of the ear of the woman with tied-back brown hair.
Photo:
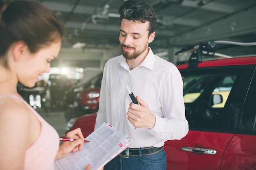
<svg viewBox="0 0 256 170">
<path fill-rule="evenodd" d="M 20 60 L 27 52 L 29 52 L 29 49 L 24 41 L 15 42 L 13 46 L 13 57 L 15 60 Z"/>
</svg>

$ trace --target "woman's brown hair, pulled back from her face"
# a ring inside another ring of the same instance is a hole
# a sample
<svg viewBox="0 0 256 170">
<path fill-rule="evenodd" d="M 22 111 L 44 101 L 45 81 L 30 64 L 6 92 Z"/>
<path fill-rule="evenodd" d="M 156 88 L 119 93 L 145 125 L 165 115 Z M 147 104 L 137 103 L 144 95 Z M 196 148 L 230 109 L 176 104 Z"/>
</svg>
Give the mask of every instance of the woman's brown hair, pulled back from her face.
<svg viewBox="0 0 256 170">
<path fill-rule="evenodd" d="M 31 53 L 61 40 L 64 28 L 57 15 L 39 2 L 0 0 L 0 60 L 14 42 L 24 41 Z"/>
</svg>

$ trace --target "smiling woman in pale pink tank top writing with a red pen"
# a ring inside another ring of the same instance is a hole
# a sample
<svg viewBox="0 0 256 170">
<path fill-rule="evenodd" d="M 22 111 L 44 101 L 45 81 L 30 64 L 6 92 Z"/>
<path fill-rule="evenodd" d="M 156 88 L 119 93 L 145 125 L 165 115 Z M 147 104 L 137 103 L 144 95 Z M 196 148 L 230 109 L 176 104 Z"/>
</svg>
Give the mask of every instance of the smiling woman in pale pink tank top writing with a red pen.
<svg viewBox="0 0 256 170">
<path fill-rule="evenodd" d="M 49 73 L 63 35 L 58 17 L 42 4 L 0 0 L 1 169 L 54 170 L 54 160 L 83 147 L 80 128 L 67 133 L 76 141 L 59 146 L 56 130 L 16 90 L 18 82 L 33 87 Z"/>
</svg>

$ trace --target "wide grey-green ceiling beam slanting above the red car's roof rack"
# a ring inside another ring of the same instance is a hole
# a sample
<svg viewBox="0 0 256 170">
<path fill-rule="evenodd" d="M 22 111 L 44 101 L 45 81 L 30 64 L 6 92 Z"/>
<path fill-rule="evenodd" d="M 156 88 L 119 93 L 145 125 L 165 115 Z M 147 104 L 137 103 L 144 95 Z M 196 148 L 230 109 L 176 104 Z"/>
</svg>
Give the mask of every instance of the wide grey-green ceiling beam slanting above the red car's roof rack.
<svg viewBox="0 0 256 170">
<path fill-rule="evenodd" d="M 234 35 L 256 32 L 256 7 L 235 13 L 216 22 L 205 24 L 170 39 L 170 44 L 185 45 L 220 40 Z"/>
</svg>

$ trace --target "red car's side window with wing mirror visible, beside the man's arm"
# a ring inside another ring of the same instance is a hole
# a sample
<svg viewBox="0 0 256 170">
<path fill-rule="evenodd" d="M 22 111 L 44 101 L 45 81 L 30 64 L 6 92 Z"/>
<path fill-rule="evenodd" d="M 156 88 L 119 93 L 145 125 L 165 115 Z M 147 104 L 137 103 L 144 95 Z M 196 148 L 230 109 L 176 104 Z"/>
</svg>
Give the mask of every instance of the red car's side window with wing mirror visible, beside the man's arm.
<svg viewBox="0 0 256 170">
<path fill-rule="evenodd" d="M 186 73 L 182 75 L 186 119 L 190 129 L 218 129 L 218 121 L 236 82 L 236 73 Z"/>
</svg>

